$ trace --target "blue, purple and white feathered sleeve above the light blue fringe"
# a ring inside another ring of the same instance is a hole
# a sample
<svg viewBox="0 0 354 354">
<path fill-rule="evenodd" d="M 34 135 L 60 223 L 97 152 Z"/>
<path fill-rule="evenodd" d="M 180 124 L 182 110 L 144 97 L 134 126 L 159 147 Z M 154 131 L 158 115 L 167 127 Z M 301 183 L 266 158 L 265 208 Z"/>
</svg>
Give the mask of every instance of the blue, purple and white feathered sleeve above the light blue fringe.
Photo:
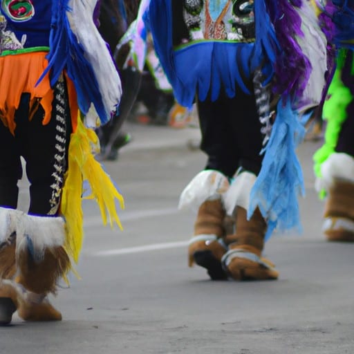
<svg viewBox="0 0 354 354">
<path fill-rule="evenodd" d="M 300 111 L 318 105 L 328 70 L 328 48 L 313 1 L 257 0 L 255 3 L 259 17 L 256 47 L 266 50 L 265 57 L 274 69 L 274 93 L 283 100 L 290 99 Z"/>
</svg>

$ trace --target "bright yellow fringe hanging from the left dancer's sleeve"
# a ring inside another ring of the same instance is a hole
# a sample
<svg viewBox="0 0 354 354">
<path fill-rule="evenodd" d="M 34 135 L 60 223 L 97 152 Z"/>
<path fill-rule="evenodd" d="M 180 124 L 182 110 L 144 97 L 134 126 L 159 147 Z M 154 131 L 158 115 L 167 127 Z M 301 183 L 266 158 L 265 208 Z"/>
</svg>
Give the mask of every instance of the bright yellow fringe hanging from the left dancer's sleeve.
<svg viewBox="0 0 354 354">
<path fill-rule="evenodd" d="M 88 181 L 91 187 L 91 196 L 100 207 L 104 225 L 109 218 L 111 227 L 113 222 L 122 230 L 122 224 L 115 207 L 115 198 L 124 209 L 124 199 L 115 188 L 111 178 L 102 169 L 93 156 L 93 148 L 99 145 L 97 135 L 93 129 L 84 127 L 79 118 L 75 133 L 71 134 L 68 149 L 68 171 L 62 192 L 61 213 L 66 221 L 66 242 L 64 247 L 75 262 L 79 259 L 83 241 L 83 212 L 82 212 L 82 184 Z"/>
</svg>

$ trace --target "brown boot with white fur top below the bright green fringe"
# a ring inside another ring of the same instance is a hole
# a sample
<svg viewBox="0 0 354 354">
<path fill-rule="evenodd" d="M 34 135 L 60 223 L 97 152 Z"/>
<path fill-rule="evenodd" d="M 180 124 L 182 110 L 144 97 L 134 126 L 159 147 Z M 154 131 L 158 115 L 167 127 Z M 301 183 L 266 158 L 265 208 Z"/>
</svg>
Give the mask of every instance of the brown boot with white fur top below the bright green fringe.
<svg viewBox="0 0 354 354">
<path fill-rule="evenodd" d="M 321 172 L 317 189 L 326 191 L 323 232 L 328 241 L 354 242 L 354 158 L 333 153 Z"/>
</svg>

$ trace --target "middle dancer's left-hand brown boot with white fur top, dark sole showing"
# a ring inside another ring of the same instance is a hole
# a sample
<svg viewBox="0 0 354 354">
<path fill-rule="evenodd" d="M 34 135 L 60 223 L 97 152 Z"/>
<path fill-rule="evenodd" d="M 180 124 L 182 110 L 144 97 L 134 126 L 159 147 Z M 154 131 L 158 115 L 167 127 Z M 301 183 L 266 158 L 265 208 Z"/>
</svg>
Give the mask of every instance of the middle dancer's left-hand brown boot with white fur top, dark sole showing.
<svg viewBox="0 0 354 354">
<path fill-rule="evenodd" d="M 180 208 L 198 208 L 194 235 L 188 246 L 188 265 L 200 265 L 213 280 L 227 279 L 221 258 L 227 250 L 223 243 L 225 208 L 222 195 L 228 187 L 228 180 L 223 174 L 205 170 L 194 177 L 180 197 Z"/>
</svg>

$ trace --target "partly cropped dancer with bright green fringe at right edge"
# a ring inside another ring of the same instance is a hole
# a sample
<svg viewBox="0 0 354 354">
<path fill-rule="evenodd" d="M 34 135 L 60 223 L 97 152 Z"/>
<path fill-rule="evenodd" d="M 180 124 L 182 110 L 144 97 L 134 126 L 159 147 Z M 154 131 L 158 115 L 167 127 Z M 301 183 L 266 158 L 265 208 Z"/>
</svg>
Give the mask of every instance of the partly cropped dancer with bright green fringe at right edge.
<svg viewBox="0 0 354 354">
<path fill-rule="evenodd" d="M 330 1 L 322 18 L 337 50 L 324 102 L 324 145 L 315 153 L 316 189 L 326 198 L 323 232 L 328 241 L 354 242 L 354 59 L 353 1 Z"/>
</svg>

